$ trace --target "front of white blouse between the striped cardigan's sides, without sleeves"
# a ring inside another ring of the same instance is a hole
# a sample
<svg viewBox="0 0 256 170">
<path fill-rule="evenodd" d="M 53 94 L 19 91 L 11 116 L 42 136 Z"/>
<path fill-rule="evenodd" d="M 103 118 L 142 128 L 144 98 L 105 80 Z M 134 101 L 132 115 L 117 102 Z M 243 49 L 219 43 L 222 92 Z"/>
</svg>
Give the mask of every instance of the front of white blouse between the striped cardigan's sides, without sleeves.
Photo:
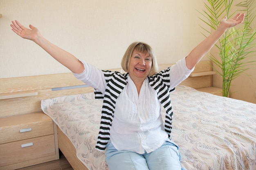
<svg viewBox="0 0 256 170">
<path fill-rule="evenodd" d="M 110 140 L 117 150 L 143 154 L 162 146 L 168 139 L 161 116 L 157 92 L 145 79 L 138 96 L 137 88 L 128 77 L 128 84 L 117 98 Z"/>
</svg>

